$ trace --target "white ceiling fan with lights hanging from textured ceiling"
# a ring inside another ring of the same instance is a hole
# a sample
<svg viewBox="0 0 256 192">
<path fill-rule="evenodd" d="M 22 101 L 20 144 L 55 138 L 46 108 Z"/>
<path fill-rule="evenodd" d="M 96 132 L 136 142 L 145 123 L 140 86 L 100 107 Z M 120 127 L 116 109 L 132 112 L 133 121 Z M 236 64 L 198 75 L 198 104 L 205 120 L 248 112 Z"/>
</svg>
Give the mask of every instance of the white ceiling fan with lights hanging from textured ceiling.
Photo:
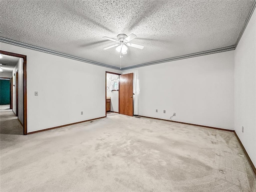
<svg viewBox="0 0 256 192">
<path fill-rule="evenodd" d="M 116 50 L 118 52 L 120 52 L 120 57 L 122 57 L 122 54 L 127 54 L 127 50 L 128 50 L 127 46 L 135 47 L 135 48 L 138 48 L 138 49 L 143 49 L 144 46 L 142 46 L 142 45 L 130 43 L 130 41 L 133 40 L 136 37 L 137 36 L 134 35 L 133 33 L 130 34 L 129 36 L 127 36 L 126 34 L 119 34 L 117 36 L 118 40 L 112 39 L 112 38 L 109 38 L 109 37 L 103 37 L 103 38 L 106 38 L 106 39 L 108 39 L 110 41 L 114 41 L 114 42 L 117 43 L 117 44 L 114 44 L 112 46 L 104 48 L 104 50 L 107 50 L 107 49 L 110 49 L 112 47 L 116 47 L 117 46 Z"/>
</svg>

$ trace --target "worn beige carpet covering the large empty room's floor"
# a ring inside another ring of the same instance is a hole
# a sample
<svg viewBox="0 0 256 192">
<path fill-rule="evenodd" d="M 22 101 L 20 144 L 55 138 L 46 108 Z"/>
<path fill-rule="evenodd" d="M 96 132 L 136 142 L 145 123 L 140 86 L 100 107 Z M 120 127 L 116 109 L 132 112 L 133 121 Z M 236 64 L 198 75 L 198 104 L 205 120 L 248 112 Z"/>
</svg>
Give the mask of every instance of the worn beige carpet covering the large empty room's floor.
<svg viewBox="0 0 256 192">
<path fill-rule="evenodd" d="M 112 114 L 1 134 L 1 192 L 255 192 L 233 132 Z"/>
</svg>

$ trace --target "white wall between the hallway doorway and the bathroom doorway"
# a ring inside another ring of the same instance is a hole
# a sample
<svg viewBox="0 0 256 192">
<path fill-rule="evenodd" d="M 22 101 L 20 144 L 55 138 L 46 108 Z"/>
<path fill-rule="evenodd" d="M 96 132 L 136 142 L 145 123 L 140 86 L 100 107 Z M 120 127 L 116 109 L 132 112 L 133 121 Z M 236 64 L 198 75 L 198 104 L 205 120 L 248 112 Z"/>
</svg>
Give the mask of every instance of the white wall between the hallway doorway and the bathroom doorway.
<svg viewBox="0 0 256 192">
<path fill-rule="evenodd" d="M 5 43 L 1 50 L 27 56 L 28 132 L 105 116 L 105 74 L 120 71 Z"/>
</svg>

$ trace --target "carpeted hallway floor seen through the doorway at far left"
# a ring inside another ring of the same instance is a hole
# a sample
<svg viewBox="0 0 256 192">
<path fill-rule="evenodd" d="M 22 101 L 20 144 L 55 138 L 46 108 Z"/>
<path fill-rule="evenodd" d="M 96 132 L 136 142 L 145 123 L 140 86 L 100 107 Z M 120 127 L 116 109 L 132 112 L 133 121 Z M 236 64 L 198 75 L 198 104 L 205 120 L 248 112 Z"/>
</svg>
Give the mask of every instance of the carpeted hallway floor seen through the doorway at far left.
<svg viewBox="0 0 256 192">
<path fill-rule="evenodd" d="M 22 135 L 23 127 L 10 109 L 10 105 L 0 106 L 0 133 L 1 141 L 4 139 L 2 134 Z"/>
</svg>

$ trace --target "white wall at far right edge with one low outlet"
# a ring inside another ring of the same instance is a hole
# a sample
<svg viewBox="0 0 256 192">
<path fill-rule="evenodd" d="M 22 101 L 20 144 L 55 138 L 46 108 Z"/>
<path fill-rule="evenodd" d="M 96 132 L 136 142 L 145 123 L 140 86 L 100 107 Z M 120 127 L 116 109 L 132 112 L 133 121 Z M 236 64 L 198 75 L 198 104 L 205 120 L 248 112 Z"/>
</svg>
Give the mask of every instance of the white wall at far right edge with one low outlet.
<svg viewBox="0 0 256 192">
<path fill-rule="evenodd" d="M 256 166 L 256 11 L 250 18 L 234 56 L 235 131 Z"/>
</svg>

